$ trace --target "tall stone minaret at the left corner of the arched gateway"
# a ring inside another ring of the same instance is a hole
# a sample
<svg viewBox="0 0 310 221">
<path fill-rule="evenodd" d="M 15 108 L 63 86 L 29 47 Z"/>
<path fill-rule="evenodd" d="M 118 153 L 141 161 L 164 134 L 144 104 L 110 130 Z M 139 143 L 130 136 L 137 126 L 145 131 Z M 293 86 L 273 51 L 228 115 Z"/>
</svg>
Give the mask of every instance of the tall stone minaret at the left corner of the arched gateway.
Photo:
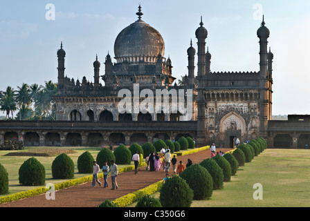
<svg viewBox="0 0 310 221">
<path fill-rule="evenodd" d="M 203 27 L 202 17 L 200 27 L 195 32 L 198 39 L 198 73 L 197 73 L 197 147 L 206 146 L 206 99 L 203 95 L 206 75 L 206 38 L 208 31 Z"/>
</svg>

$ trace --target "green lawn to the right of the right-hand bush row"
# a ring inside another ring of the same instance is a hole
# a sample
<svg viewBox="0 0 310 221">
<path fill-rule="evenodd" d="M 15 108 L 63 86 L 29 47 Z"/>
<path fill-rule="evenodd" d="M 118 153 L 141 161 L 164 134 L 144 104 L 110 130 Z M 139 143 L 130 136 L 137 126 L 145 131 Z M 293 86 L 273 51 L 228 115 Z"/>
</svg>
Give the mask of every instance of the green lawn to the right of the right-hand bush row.
<svg viewBox="0 0 310 221">
<path fill-rule="evenodd" d="M 253 199 L 256 183 L 262 184 L 262 200 Z M 310 150 L 266 149 L 224 182 L 224 189 L 213 191 L 210 200 L 194 200 L 192 207 L 308 207 L 309 199 Z"/>
</svg>

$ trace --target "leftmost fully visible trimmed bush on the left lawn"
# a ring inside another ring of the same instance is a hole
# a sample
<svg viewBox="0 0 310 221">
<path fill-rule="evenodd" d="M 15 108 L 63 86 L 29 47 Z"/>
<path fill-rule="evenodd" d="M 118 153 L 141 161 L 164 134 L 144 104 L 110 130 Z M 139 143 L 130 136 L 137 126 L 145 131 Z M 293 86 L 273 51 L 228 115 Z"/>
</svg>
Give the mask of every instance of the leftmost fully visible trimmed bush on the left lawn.
<svg viewBox="0 0 310 221">
<path fill-rule="evenodd" d="M 31 157 L 19 167 L 19 183 L 23 186 L 41 186 L 45 184 L 45 168 Z"/>
</svg>

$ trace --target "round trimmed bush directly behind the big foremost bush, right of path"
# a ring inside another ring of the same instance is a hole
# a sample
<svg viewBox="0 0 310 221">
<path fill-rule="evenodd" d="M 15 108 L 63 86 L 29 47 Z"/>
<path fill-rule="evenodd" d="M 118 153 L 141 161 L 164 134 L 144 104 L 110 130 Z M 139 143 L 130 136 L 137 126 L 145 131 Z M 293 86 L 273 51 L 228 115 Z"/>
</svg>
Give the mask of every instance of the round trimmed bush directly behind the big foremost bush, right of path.
<svg viewBox="0 0 310 221">
<path fill-rule="evenodd" d="M 186 180 L 190 189 L 194 191 L 194 200 L 205 200 L 212 196 L 213 180 L 203 166 L 194 164 L 185 169 L 179 176 Z"/>
</svg>

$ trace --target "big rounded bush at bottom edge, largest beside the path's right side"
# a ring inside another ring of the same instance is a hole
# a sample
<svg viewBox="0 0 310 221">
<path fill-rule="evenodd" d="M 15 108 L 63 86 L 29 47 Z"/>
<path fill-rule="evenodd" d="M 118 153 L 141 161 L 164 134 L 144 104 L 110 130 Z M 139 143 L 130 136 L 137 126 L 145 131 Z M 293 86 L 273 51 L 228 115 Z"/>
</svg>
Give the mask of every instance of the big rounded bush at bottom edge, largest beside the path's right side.
<svg viewBox="0 0 310 221">
<path fill-rule="evenodd" d="M 166 180 L 160 193 L 159 202 L 163 207 L 190 207 L 194 196 L 190 186 L 179 175 L 172 175 Z"/>
</svg>

